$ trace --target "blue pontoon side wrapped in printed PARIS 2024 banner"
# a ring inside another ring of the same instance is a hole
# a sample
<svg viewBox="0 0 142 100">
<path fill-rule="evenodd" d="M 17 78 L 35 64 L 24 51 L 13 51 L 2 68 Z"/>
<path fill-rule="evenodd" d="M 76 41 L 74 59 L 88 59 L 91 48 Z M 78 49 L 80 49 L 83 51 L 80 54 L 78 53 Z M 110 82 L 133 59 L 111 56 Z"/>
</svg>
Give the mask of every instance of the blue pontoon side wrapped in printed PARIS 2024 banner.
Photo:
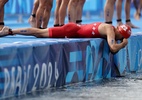
<svg viewBox="0 0 142 100">
<path fill-rule="evenodd" d="M 115 55 L 106 40 L 99 38 L 16 37 L 10 38 L 11 43 L 0 44 L 0 98 L 121 76 L 142 68 L 141 35 L 132 36 Z"/>
</svg>

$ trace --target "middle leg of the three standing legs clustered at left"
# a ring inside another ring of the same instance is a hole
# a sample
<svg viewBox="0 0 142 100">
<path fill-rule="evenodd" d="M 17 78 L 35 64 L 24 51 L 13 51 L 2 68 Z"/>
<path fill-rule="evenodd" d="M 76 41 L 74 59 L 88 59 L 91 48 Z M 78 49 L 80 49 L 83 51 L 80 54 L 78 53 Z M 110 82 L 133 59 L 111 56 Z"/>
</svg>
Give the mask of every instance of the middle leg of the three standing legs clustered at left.
<svg viewBox="0 0 142 100">
<path fill-rule="evenodd" d="M 41 27 L 41 22 L 42 22 L 42 19 L 43 19 L 43 15 L 44 15 L 44 10 L 46 8 L 46 3 L 47 0 L 39 0 L 39 7 L 37 9 L 37 12 L 36 12 L 36 28 L 40 28 Z"/>
</svg>

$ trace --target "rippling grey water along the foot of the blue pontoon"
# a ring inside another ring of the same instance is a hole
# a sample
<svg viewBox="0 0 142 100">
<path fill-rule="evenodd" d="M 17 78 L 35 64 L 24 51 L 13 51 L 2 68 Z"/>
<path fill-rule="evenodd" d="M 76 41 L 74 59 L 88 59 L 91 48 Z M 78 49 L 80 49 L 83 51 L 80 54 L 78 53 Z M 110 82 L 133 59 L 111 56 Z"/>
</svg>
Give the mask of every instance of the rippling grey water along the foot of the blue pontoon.
<svg viewBox="0 0 142 100">
<path fill-rule="evenodd" d="M 142 100 L 142 74 L 79 83 L 10 100 Z"/>
</svg>

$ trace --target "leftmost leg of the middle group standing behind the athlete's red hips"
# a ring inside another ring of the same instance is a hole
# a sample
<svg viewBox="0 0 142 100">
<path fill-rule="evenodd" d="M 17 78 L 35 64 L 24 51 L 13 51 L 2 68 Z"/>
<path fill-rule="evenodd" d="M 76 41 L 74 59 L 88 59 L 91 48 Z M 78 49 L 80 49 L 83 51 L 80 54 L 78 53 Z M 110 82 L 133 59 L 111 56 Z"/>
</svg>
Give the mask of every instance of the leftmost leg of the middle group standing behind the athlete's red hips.
<svg viewBox="0 0 142 100">
<path fill-rule="evenodd" d="M 62 0 L 56 0 L 56 8 L 55 8 L 55 13 L 54 13 L 54 26 L 57 27 L 59 26 L 59 9 L 61 6 Z"/>
</svg>

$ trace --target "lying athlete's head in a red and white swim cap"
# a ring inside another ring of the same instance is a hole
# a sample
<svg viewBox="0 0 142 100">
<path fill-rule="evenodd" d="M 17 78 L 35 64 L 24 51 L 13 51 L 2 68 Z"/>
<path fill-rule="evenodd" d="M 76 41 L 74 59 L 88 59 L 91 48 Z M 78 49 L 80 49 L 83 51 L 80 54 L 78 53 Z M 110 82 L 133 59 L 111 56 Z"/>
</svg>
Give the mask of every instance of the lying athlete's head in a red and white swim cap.
<svg viewBox="0 0 142 100">
<path fill-rule="evenodd" d="M 129 25 L 123 24 L 118 26 L 118 31 L 124 38 L 131 36 L 131 27 Z"/>
</svg>

